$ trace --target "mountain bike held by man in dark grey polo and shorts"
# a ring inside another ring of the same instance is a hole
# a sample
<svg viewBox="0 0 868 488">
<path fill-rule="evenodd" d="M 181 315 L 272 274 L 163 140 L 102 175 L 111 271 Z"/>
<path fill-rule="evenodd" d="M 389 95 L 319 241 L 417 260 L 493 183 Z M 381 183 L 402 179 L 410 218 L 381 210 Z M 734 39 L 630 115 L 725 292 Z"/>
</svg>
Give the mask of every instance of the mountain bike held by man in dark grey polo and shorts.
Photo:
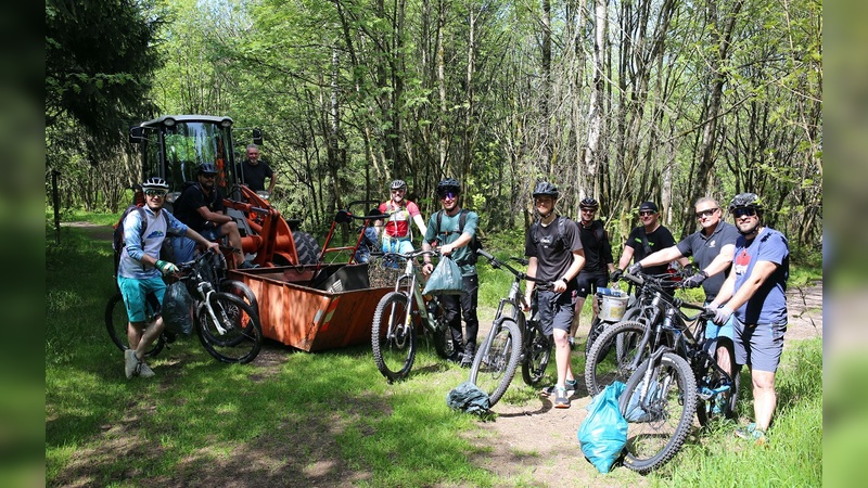
<svg viewBox="0 0 868 488">
<path fill-rule="evenodd" d="M 536 282 L 536 288 L 550 290 L 552 283 L 531 278 L 483 249 L 477 249 L 476 254 L 488 259 L 492 268 L 503 268 L 514 277 L 507 297 L 501 298 L 497 306 L 492 331 L 476 351 L 470 369 L 470 382 L 488 394 L 488 406 L 494 407 L 509 388 L 519 363 L 528 386 L 539 384 L 546 373 L 554 341 L 542 332 L 536 295 L 532 304 L 527 304 L 520 285 L 526 280 Z M 510 259 L 527 265 L 523 258 Z M 524 316 L 526 305 L 531 308 L 529 320 Z"/>
</svg>

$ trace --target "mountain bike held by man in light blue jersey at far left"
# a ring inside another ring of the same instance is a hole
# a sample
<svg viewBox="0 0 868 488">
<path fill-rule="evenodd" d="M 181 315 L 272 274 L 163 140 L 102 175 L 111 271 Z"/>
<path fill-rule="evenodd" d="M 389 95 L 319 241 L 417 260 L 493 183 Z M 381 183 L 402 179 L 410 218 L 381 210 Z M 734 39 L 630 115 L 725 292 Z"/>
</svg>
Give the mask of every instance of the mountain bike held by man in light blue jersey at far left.
<svg viewBox="0 0 868 488">
<path fill-rule="evenodd" d="M 225 266 L 222 255 L 209 251 L 190 262 L 178 265 L 178 279 L 193 298 L 193 325 L 205 350 L 221 362 L 246 363 L 256 358 L 263 344 L 258 304 L 244 283 L 219 278 Z M 162 313 L 153 294 L 149 294 L 146 300 L 145 324 Z M 120 350 L 128 349 L 128 320 L 124 299 L 117 293 L 105 307 L 105 325 L 112 342 Z M 145 356 L 156 356 L 175 338 L 175 333 L 164 329 Z"/>
</svg>

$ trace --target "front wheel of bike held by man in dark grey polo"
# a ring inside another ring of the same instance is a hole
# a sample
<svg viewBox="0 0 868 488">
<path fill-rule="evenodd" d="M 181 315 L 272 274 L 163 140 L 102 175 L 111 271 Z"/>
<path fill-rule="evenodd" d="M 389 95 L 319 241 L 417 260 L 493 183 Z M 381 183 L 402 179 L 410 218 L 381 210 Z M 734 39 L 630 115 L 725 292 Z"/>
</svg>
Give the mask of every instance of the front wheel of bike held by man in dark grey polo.
<svg viewBox="0 0 868 488">
<path fill-rule="evenodd" d="M 470 382 L 488 394 L 488 408 L 507 391 L 522 354 L 522 334 L 511 319 L 500 318 L 492 325 L 482 349 L 473 358 Z"/>
</svg>

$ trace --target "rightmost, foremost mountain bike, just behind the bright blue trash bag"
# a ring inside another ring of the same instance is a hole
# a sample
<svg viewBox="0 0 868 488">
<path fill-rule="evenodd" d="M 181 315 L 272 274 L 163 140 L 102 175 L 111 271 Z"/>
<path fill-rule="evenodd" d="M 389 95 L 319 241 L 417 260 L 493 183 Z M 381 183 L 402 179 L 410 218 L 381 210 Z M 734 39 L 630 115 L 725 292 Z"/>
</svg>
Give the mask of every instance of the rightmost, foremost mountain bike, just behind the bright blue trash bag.
<svg viewBox="0 0 868 488">
<path fill-rule="evenodd" d="M 702 425 L 717 415 L 732 416 L 739 382 L 709 352 L 705 326 L 713 312 L 662 293 L 662 280 L 654 277 L 624 273 L 624 278 L 654 290 L 652 305 L 659 311 L 639 345 L 651 352 L 627 380 L 618 400 L 628 422 L 624 464 L 644 474 L 678 452 L 694 413 Z M 697 313 L 688 316 L 684 309 Z M 719 411 L 713 408 L 717 400 Z"/>
</svg>

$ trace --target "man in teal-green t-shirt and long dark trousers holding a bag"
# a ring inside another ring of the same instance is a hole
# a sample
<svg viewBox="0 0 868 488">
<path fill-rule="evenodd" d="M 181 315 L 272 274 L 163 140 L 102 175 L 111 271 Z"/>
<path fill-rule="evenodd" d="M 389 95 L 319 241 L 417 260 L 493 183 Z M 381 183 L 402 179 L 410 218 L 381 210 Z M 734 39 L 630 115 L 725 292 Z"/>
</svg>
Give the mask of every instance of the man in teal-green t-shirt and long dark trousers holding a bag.
<svg viewBox="0 0 868 488">
<path fill-rule="evenodd" d="M 461 267 L 465 293 L 444 295 L 441 297 L 441 304 L 452 333 L 455 355 L 450 359 L 460 361 L 462 368 L 470 368 L 473 364 L 476 336 L 480 332 L 480 319 L 476 317 L 480 280 L 476 275 L 475 252 L 470 243 L 476 236 L 480 216 L 475 211 L 461 208 L 458 202 L 461 196 L 461 184 L 454 178 L 446 178 L 437 183 L 437 196 L 443 209 L 435 211 L 429 219 L 422 248 L 429 251 L 436 246 L 444 256 L 449 256 Z M 431 275 L 434 271 L 431 256 L 425 256 L 424 260 L 422 272 Z M 461 319 L 464 319 L 467 334 L 461 332 Z"/>
</svg>

